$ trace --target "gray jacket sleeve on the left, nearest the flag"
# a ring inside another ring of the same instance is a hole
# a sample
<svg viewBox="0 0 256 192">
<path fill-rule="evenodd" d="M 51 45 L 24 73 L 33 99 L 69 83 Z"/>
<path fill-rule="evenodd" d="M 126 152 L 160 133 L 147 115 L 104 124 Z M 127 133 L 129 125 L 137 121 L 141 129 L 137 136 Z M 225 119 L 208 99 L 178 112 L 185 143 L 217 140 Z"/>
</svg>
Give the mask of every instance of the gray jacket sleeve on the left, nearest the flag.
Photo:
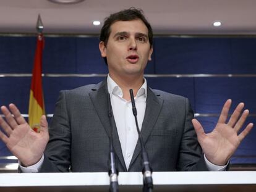
<svg viewBox="0 0 256 192">
<path fill-rule="evenodd" d="M 39 172 L 69 172 L 71 135 L 66 97 L 66 91 L 61 91 L 49 126 L 49 142 Z"/>
</svg>

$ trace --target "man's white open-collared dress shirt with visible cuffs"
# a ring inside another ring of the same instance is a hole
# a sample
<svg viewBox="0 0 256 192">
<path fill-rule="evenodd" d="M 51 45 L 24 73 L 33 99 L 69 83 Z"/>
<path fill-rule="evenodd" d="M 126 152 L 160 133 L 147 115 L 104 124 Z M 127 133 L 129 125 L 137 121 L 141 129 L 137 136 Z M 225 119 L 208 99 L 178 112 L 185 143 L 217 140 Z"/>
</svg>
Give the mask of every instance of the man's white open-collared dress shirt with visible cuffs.
<svg viewBox="0 0 256 192">
<path fill-rule="evenodd" d="M 138 140 L 138 133 L 136 130 L 134 114 L 132 113 L 132 103 L 122 98 L 123 94 L 121 88 L 116 84 L 116 82 L 114 82 L 111 77 L 109 77 L 109 75 L 107 78 L 107 82 L 114 120 L 116 122 L 117 133 L 119 136 L 119 141 L 121 143 L 122 155 L 124 156 L 124 162 L 126 163 L 126 168 L 128 169 Z M 145 78 L 143 85 L 140 87 L 137 95 L 134 97 L 134 100 L 137 108 L 139 129 L 141 130 L 147 101 L 147 80 Z M 43 164 L 43 158 L 44 156 L 35 165 L 29 167 L 23 167 L 19 163 L 20 170 L 22 172 L 30 173 L 38 172 L 38 169 L 40 169 L 41 165 Z M 210 161 L 208 161 L 206 157 L 205 162 L 208 169 L 211 171 L 225 170 L 226 166 L 228 165 L 226 164 L 224 166 L 219 166 L 212 164 Z"/>
</svg>

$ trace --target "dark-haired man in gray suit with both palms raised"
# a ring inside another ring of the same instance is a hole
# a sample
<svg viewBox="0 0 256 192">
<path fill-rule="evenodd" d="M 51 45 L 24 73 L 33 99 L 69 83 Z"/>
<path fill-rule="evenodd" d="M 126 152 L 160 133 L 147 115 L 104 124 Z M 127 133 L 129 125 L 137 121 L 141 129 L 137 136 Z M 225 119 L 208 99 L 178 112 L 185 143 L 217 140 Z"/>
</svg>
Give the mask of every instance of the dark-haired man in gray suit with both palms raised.
<svg viewBox="0 0 256 192">
<path fill-rule="evenodd" d="M 73 172 L 107 172 L 110 135 L 117 169 L 141 171 L 130 89 L 134 90 L 139 127 L 154 171 L 226 168 L 253 127 L 249 123 L 237 135 L 249 111 L 242 112 L 244 104 L 240 103 L 226 123 L 231 106 L 228 99 L 215 129 L 205 134 L 193 119 L 188 99 L 147 86 L 143 73 L 153 52 L 152 38 L 150 24 L 141 10 L 127 9 L 110 15 L 99 44 L 108 77 L 98 85 L 61 91 L 49 134 L 44 115 L 41 131 L 35 133 L 14 104 L 9 105 L 11 112 L 1 107 L 6 120 L 0 117 L 0 125 L 6 135 L 0 132 L 0 138 L 18 157 L 23 172 L 67 172 L 69 168 Z M 108 93 L 115 120 L 113 131 L 108 118 Z"/>
</svg>

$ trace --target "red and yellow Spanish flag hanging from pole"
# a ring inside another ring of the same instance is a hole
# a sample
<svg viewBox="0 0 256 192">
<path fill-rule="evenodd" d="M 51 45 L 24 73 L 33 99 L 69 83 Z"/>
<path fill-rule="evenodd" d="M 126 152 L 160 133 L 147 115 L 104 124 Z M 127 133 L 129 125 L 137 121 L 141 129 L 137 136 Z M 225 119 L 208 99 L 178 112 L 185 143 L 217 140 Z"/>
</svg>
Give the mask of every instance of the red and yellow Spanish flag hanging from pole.
<svg viewBox="0 0 256 192">
<path fill-rule="evenodd" d="M 32 83 L 30 88 L 30 99 L 28 109 L 28 123 L 36 131 L 40 131 L 40 118 L 45 114 L 45 103 L 43 101 L 42 86 L 42 55 L 44 47 L 44 38 L 40 33 L 37 36 L 35 61 L 33 67 Z"/>
</svg>

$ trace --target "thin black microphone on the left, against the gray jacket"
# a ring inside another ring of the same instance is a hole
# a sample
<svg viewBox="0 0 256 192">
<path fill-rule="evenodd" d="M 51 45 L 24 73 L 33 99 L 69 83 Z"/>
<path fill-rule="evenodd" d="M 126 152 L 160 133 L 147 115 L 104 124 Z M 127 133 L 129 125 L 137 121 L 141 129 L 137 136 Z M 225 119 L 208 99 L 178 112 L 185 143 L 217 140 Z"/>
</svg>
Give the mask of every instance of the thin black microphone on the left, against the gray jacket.
<svg viewBox="0 0 256 192">
<path fill-rule="evenodd" d="M 109 136 L 109 159 L 110 159 L 110 166 L 109 166 L 109 191 L 110 192 L 118 192 L 118 170 L 116 169 L 116 161 L 115 161 L 115 154 L 114 154 L 114 148 L 113 148 L 113 111 L 111 107 L 111 100 L 110 100 L 110 94 L 108 93 L 108 117 L 111 127 L 111 134 Z"/>
</svg>

